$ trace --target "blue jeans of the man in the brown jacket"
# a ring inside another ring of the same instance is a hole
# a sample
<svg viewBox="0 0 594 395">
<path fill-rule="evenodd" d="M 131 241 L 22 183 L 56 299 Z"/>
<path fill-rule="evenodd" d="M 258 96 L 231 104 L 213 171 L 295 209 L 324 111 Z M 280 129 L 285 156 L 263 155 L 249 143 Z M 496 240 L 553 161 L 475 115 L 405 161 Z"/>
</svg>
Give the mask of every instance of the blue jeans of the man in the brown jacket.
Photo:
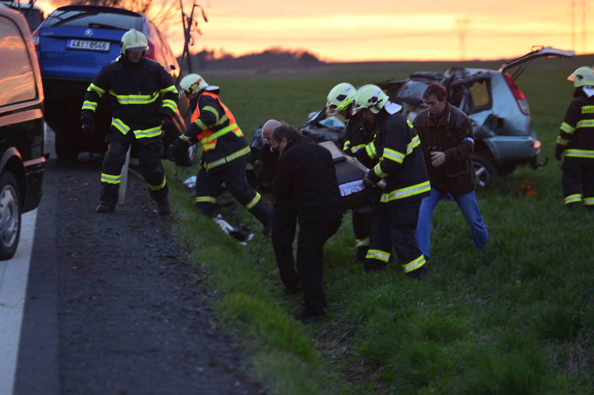
<svg viewBox="0 0 594 395">
<path fill-rule="evenodd" d="M 416 225 L 416 241 L 425 258 L 429 258 L 429 236 L 433 210 L 446 195 L 444 192 L 431 188 L 431 195 L 421 202 L 419 220 Z M 475 191 L 463 195 L 451 195 L 451 197 L 456 201 L 466 219 L 476 248 L 481 249 L 489 241 L 489 233 L 486 230 L 479 206 L 476 204 Z"/>
</svg>

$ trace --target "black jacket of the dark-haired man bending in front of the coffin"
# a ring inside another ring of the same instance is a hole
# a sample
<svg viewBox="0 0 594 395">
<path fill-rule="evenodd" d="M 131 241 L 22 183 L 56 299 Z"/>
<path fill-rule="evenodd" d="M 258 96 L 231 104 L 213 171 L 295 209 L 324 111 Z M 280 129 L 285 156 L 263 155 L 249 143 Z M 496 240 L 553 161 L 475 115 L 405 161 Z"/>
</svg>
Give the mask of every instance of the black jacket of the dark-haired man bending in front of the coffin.
<svg viewBox="0 0 594 395">
<path fill-rule="evenodd" d="M 342 213 L 332 155 L 307 137 L 289 141 L 280 154 L 272 189 L 277 203 L 295 208 L 299 222 Z"/>
</svg>

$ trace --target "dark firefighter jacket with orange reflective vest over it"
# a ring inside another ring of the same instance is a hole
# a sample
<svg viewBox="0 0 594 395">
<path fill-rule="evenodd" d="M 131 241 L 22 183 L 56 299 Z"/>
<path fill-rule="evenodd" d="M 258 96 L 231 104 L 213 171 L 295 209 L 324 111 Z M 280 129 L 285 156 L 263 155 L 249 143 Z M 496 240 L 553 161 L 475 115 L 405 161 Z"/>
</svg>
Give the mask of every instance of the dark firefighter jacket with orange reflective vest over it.
<svg viewBox="0 0 594 395">
<path fill-rule="evenodd" d="M 202 143 L 202 165 L 207 171 L 216 172 L 250 151 L 235 116 L 219 99 L 220 90 L 210 88 L 213 90 L 208 91 L 207 87 L 198 97 L 192 124 L 179 138 L 189 146 Z"/>
</svg>

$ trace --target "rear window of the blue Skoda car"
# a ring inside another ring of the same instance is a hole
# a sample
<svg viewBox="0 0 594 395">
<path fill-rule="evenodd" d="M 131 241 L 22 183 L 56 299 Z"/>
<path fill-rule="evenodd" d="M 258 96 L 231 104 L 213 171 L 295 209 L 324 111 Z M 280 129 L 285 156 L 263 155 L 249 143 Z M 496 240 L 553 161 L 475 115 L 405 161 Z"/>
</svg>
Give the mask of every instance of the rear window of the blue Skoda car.
<svg viewBox="0 0 594 395">
<path fill-rule="evenodd" d="M 98 27 L 103 29 L 140 29 L 140 15 L 119 14 L 96 10 L 56 10 L 45 20 L 43 27 Z"/>
</svg>

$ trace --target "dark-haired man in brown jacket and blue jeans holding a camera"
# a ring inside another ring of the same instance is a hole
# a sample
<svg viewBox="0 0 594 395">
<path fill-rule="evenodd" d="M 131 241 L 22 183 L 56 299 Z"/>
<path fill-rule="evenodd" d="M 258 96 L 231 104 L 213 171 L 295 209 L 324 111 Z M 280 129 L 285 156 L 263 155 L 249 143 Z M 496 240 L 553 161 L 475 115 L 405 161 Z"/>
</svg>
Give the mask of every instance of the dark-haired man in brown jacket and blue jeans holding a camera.
<svg viewBox="0 0 594 395">
<path fill-rule="evenodd" d="M 441 83 L 429 84 L 422 99 L 427 108 L 419 112 L 413 124 L 421 138 L 431 194 L 423 199 L 419 211 L 419 248 L 429 259 L 433 210 L 450 194 L 466 219 L 476 248 L 481 249 L 489 241 L 489 233 L 476 203 L 472 122 L 462 110 L 447 102 L 447 91 Z"/>
</svg>

